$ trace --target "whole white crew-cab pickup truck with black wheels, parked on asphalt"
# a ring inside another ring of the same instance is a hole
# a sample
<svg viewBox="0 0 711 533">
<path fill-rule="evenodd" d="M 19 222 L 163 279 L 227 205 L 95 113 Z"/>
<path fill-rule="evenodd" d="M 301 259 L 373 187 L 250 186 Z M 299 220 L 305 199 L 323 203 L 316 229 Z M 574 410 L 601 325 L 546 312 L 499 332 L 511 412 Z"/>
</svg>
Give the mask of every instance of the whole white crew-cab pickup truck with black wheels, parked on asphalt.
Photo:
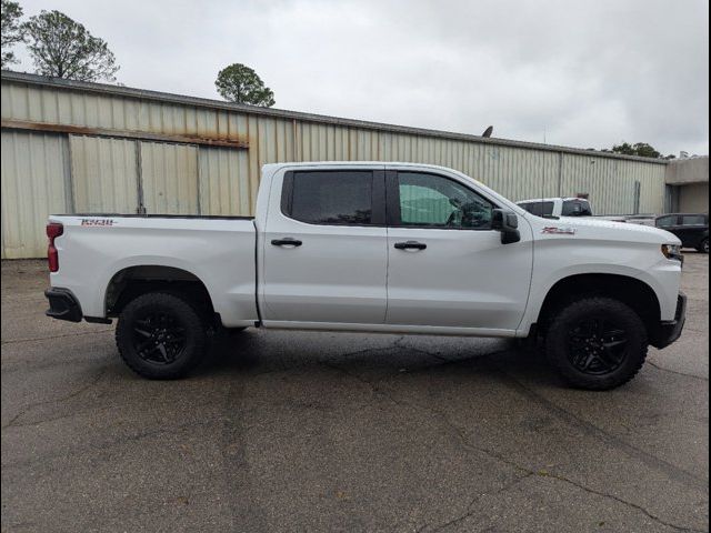
<svg viewBox="0 0 711 533">
<path fill-rule="evenodd" d="M 454 170 L 264 165 L 254 218 L 51 215 L 47 314 L 108 323 L 151 379 L 217 328 L 529 338 L 572 385 L 634 376 L 681 334 L 680 241 L 543 219 Z"/>
</svg>

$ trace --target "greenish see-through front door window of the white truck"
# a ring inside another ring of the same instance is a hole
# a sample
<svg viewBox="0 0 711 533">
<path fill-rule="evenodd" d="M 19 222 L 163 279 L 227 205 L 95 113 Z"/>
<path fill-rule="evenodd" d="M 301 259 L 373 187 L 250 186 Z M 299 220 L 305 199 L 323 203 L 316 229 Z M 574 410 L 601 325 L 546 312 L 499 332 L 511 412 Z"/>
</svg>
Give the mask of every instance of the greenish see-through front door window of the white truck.
<svg viewBox="0 0 711 533">
<path fill-rule="evenodd" d="M 492 204 L 441 175 L 398 172 L 400 224 L 429 228 L 491 228 Z"/>
</svg>

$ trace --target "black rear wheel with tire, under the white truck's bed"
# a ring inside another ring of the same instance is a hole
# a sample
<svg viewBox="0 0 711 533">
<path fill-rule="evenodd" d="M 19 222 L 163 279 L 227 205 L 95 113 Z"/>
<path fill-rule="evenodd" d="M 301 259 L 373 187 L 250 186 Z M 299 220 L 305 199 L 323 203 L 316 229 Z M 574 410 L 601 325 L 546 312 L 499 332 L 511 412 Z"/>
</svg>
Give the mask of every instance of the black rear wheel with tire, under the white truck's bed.
<svg viewBox="0 0 711 533">
<path fill-rule="evenodd" d="M 137 374 L 172 380 L 184 376 L 202 360 L 206 325 L 186 300 L 150 292 L 123 308 L 116 343 L 126 364 Z"/>
</svg>

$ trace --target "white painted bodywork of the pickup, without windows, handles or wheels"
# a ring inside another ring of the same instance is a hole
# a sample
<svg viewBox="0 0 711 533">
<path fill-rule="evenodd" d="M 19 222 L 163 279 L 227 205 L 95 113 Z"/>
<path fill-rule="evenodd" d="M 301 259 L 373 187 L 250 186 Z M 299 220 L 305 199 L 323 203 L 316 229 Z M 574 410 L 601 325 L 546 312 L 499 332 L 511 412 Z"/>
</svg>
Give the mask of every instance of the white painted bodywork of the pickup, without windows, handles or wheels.
<svg viewBox="0 0 711 533">
<path fill-rule="evenodd" d="M 503 245 L 488 231 L 414 234 L 423 230 L 297 222 L 280 210 L 283 174 L 294 168 L 443 173 L 518 213 L 522 239 Z M 523 336 L 550 289 L 570 275 L 609 273 L 641 280 L 657 294 L 662 320 L 673 319 L 681 276 L 679 263 L 660 251 L 662 243 L 679 243 L 671 233 L 590 218 L 541 219 L 457 171 L 432 165 L 266 165 L 253 222 L 118 217 L 111 227 L 89 228 L 77 217 L 50 220 L 66 227 L 57 240 L 60 271 L 51 275 L 51 283 L 72 290 L 84 313 L 94 316 L 103 315 L 106 289 L 118 271 L 150 264 L 183 269 L 202 280 L 226 325 L 248 325 L 257 319 L 257 291 L 267 326 Z M 557 224 L 577 231 L 542 233 Z M 271 245 L 272 239 L 286 237 L 303 245 Z M 412 238 L 428 239 L 428 249 L 391 248 L 395 240 Z"/>
</svg>

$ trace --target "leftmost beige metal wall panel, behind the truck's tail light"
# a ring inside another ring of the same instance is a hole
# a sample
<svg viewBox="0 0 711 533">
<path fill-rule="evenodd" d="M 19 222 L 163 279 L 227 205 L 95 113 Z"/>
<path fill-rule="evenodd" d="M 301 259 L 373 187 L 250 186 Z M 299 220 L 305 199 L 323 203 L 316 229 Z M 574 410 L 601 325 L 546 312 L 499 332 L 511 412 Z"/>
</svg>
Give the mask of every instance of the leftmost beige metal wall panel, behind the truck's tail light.
<svg viewBox="0 0 711 533">
<path fill-rule="evenodd" d="M 47 254 L 47 217 L 69 211 L 67 138 L 2 132 L 2 259 Z"/>
</svg>

